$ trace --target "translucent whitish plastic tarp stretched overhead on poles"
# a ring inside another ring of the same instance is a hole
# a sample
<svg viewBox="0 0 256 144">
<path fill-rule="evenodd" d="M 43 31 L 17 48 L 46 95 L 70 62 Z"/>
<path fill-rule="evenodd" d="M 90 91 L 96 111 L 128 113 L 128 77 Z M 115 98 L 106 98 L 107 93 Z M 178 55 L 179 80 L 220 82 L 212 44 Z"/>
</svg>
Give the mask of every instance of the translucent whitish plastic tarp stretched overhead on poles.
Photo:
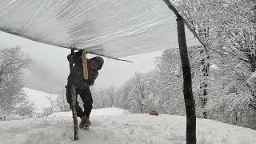
<svg viewBox="0 0 256 144">
<path fill-rule="evenodd" d="M 161 0 L 1 0 L 0 30 L 111 57 L 178 47 L 176 17 Z M 188 30 L 186 40 L 199 43 Z"/>
</svg>

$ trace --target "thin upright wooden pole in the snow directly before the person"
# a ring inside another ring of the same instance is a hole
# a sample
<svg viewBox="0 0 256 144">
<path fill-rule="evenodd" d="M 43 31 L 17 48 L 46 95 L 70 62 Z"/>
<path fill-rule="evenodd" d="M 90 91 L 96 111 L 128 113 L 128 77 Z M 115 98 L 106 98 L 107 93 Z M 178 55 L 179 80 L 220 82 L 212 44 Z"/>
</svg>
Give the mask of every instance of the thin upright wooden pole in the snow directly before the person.
<svg viewBox="0 0 256 144">
<path fill-rule="evenodd" d="M 71 50 L 71 54 L 74 54 L 74 50 Z M 73 62 L 72 59 L 70 60 L 70 74 L 71 74 L 71 70 L 73 67 Z M 70 78 L 73 78 L 72 76 Z M 71 110 L 72 110 L 72 114 L 73 114 L 73 121 L 74 121 L 74 141 L 78 140 L 78 117 L 77 117 L 77 110 L 76 110 L 76 105 L 77 105 L 77 98 L 76 98 L 76 94 L 75 94 L 75 88 L 74 88 L 74 84 L 73 84 L 73 79 L 70 80 L 71 84 L 70 84 L 70 94 L 71 94 L 71 98 L 72 98 L 72 102 L 71 102 Z"/>
</svg>

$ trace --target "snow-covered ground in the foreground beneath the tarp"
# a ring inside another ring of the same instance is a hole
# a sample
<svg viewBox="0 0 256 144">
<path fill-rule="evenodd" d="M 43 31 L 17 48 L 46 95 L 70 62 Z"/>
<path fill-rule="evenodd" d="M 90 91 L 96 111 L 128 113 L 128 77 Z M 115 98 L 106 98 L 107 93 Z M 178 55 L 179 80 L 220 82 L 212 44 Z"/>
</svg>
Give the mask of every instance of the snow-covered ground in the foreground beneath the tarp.
<svg viewBox="0 0 256 144">
<path fill-rule="evenodd" d="M 98 113 L 98 114 L 97 114 Z M 110 114 L 110 115 L 109 115 Z M 90 130 L 79 130 L 74 142 L 71 113 L 47 118 L 0 122 L 1 144 L 183 144 L 186 118 L 160 114 L 127 114 L 126 110 L 92 111 Z M 198 144 L 255 144 L 256 130 L 211 120 L 197 120 Z"/>
</svg>

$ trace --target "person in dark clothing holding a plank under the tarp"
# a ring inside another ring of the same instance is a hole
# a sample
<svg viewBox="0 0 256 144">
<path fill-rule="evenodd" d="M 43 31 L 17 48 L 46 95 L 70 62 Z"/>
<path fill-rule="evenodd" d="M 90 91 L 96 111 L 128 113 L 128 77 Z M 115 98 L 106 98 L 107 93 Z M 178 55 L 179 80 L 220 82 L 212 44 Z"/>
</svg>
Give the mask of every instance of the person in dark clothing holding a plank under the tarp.
<svg viewBox="0 0 256 144">
<path fill-rule="evenodd" d="M 70 75 L 68 77 L 66 85 L 66 100 L 71 104 L 71 83 L 75 87 L 76 96 L 79 94 L 83 102 L 84 111 L 80 106 L 76 106 L 77 116 L 81 118 L 79 127 L 89 127 L 90 126 L 90 112 L 93 108 L 93 98 L 90 94 L 90 86 L 94 85 L 95 79 L 98 77 L 98 70 L 102 69 L 104 60 L 102 57 L 94 57 L 87 59 L 87 68 L 88 68 L 88 79 L 85 79 L 83 76 L 83 67 L 82 67 L 82 50 L 69 54 L 67 59 L 74 63 L 74 66 L 71 68 Z M 71 82 L 71 80 L 73 82 Z M 71 106 L 71 105 L 70 105 Z"/>
</svg>

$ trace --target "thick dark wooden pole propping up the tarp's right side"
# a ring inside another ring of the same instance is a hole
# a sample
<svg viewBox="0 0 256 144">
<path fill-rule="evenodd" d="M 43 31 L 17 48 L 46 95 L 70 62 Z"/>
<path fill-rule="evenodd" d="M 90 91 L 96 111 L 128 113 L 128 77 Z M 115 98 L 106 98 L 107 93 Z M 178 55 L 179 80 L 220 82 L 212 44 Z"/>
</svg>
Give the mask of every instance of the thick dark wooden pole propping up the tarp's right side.
<svg viewBox="0 0 256 144">
<path fill-rule="evenodd" d="M 182 61 L 183 73 L 183 94 L 186 106 L 186 144 L 196 144 L 196 115 L 194 107 L 194 98 L 192 93 L 192 78 L 190 71 L 190 60 L 187 54 L 186 34 L 184 26 L 184 18 L 178 14 L 178 10 L 170 3 L 169 0 L 163 0 L 170 10 L 174 12 L 177 19 L 178 30 L 178 46 Z"/>
</svg>

